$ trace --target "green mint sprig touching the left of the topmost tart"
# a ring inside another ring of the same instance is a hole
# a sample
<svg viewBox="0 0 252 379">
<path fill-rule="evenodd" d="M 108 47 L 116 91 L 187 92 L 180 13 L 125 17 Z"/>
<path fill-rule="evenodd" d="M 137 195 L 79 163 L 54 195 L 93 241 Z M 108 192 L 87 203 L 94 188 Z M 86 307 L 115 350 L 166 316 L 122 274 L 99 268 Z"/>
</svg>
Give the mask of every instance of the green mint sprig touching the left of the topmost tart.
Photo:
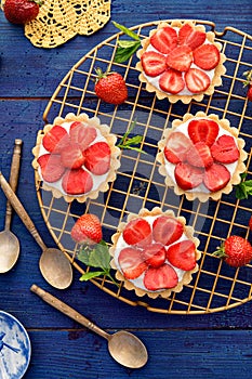
<svg viewBox="0 0 252 379">
<path fill-rule="evenodd" d="M 122 63 L 128 61 L 136 52 L 136 50 L 138 50 L 141 47 L 141 39 L 140 36 L 137 36 L 134 31 L 128 29 L 125 26 L 120 25 L 116 22 L 112 22 L 112 24 L 116 26 L 116 28 L 123 31 L 128 37 L 132 39 L 118 40 L 118 47 L 114 61 L 116 63 Z"/>
</svg>

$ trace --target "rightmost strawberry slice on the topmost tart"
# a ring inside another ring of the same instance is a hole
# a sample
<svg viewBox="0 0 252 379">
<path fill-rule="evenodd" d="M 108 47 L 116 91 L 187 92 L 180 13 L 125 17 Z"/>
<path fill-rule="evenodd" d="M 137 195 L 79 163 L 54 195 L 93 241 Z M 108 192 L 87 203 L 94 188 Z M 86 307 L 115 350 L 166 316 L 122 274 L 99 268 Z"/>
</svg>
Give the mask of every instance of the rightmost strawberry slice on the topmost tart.
<svg viewBox="0 0 252 379">
<path fill-rule="evenodd" d="M 194 51 L 194 63 L 202 69 L 215 68 L 220 58 L 220 51 L 214 44 L 202 44 Z"/>
</svg>

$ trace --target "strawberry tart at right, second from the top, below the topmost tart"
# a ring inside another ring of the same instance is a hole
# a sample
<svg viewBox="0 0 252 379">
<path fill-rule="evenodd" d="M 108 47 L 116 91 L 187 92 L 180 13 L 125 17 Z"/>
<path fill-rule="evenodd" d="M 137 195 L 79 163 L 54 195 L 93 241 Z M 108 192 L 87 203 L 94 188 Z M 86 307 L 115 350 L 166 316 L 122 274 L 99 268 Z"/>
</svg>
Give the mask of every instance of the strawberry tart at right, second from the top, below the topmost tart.
<svg viewBox="0 0 252 379">
<path fill-rule="evenodd" d="M 185 114 L 165 129 L 157 155 L 159 172 L 176 195 L 188 200 L 217 200 L 239 184 L 246 171 L 244 141 L 227 119 L 216 115 Z"/>
</svg>

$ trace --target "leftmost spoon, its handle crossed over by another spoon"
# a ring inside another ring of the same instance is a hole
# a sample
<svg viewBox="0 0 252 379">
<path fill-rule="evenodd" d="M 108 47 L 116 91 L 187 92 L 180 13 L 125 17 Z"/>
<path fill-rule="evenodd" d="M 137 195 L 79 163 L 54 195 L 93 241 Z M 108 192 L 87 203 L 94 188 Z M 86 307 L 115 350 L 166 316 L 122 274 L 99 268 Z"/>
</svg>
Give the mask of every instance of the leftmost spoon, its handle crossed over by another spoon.
<svg viewBox="0 0 252 379">
<path fill-rule="evenodd" d="M 22 140 L 16 139 L 12 156 L 10 186 L 15 192 L 18 181 L 21 164 Z M 4 231 L 0 232 L 0 274 L 10 271 L 17 261 L 19 256 L 19 241 L 14 233 L 10 231 L 12 219 L 12 206 L 6 201 L 5 225 Z"/>
</svg>

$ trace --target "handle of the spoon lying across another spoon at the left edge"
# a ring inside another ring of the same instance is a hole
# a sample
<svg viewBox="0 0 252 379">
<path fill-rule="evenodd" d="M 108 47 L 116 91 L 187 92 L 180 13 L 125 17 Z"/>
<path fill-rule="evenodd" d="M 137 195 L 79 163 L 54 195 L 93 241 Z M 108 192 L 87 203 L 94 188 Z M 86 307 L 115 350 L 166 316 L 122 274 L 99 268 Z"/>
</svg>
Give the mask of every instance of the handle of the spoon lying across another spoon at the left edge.
<svg viewBox="0 0 252 379">
<path fill-rule="evenodd" d="M 22 205 L 18 197 L 15 195 L 15 193 L 11 188 L 10 184 L 8 183 L 8 181 L 5 180 L 1 171 L 0 171 L 0 186 L 2 187 L 2 191 L 4 192 L 6 198 L 10 200 L 12 207 L 15 209 L 16 213 L 19 215 L 21 220 L 23 221 L 27 230 L 30 232 L 32 237 L 38 243 L 38 245 L 44 251 L 47 249 L 47 246 L 44 245 L 42 238 L 40 237 L 37 228 L 35 227 L 34 222 L 31 221 L 30 217 L 26 212 L 24 206 Z"/>
</svg>

